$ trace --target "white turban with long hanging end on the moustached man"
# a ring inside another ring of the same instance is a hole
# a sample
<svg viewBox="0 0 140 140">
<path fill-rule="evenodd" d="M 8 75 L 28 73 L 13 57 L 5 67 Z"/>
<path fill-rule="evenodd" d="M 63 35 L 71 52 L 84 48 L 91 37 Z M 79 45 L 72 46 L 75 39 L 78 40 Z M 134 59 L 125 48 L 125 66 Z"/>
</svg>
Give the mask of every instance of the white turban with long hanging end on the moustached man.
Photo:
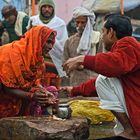
<svg viewBox="0 0 140 140">
<path fill-rule="evenodd" d="M 73 10 L 73 18 L 77 18 L 79 16 L 88 17 L 87 24 L 82 33 L 79 46 L 77 48 L 78 54 L 86 55 L 86 54 L 90 54 L 90 50 L 91 50 L 91 39 L 92 39 L 93 24 L 95 23 L 95 14 L 89 12 L 84 7 L 76 7 Z"/>
</svg>

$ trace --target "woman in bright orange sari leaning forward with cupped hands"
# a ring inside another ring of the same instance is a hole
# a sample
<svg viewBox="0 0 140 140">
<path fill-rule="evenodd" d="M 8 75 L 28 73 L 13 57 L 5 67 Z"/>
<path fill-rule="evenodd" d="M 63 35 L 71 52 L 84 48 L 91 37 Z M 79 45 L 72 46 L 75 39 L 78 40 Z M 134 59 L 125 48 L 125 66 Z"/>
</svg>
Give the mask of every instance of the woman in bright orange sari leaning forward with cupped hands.
<svg viewBox="0 0 140 140">
<path fill-rule="evenodd" d="M 44 56 L 52 49 L 55 36 L 54 30 L 36 26 L 20 40 L 0 47 L 0 118 L 30 115 L 32 101 L 41 106 L 56 103 L 42 85 Z"/>
</svg>

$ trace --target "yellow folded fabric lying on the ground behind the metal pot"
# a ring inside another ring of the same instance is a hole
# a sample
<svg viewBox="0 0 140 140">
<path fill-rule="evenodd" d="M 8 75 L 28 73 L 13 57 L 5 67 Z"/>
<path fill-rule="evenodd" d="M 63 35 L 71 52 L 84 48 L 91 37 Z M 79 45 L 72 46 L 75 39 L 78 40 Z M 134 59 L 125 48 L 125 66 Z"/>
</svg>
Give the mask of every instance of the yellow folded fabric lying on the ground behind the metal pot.
<svg viewBox="0 0 140 140">
<path fill-rule="evenodd" d="M 69 102 L 69 105 L 73 117 L 86 117 L 91 121 L 91 124 L 111 122 L 115 118 L 109 110 L 103 110 L 99 107 L 99 101 L 73 100 Z"/>
</svg>

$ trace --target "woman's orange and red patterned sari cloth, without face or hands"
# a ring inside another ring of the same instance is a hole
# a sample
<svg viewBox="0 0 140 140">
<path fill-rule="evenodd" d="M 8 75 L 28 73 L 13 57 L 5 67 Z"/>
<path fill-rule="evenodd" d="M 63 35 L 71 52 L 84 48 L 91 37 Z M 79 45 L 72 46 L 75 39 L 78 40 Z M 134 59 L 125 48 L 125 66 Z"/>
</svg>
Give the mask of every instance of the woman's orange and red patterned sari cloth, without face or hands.
<svg viewBox="0 0 140 140">
<path fill-rule="evenodd" d="M 30 91 L 43 78 L 45 64 L 42 48 L 51 33 L 45 26 L 36 26 L 24 36 L 0 47 L 0 81 L 7 87 Z M 19 98 L 0 91 L 0 118 L 18 115 L 22 102 Z M 8 110 L 8 111 L 7 111 Z"/>
</svg>

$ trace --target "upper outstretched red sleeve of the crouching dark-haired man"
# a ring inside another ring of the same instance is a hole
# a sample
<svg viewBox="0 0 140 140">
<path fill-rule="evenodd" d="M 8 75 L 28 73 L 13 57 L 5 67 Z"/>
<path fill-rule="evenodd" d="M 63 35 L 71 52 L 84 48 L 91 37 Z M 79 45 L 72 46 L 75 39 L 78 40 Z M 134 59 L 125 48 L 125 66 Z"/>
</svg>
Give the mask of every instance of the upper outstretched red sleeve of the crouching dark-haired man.
<svg viewBox="0 0 140 140">
<path fill-rule="evenodd" d="M 84 68 L 94 70 L 107 77 L 119 77 L 135 70 L 135 66 L 138 64 L 135 47 L 129 44 L 118 46 L 107 53 L 85 56 Z"/>
</svg>

